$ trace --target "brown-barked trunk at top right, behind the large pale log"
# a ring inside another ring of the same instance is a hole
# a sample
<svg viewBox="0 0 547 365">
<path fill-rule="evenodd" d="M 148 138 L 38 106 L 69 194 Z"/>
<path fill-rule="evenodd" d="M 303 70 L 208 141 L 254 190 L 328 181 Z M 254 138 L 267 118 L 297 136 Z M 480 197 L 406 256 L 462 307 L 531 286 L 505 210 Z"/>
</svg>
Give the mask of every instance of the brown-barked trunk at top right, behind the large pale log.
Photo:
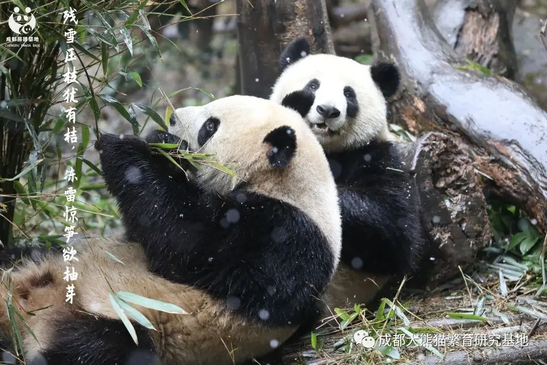
<svg viewBox="0 0 547 365">
<path fill-rule="evenodd" d="M 510 79 L 516 74 L 514 0 L 439 0 L 433 20 L 456 52 Z"/>
</svg>

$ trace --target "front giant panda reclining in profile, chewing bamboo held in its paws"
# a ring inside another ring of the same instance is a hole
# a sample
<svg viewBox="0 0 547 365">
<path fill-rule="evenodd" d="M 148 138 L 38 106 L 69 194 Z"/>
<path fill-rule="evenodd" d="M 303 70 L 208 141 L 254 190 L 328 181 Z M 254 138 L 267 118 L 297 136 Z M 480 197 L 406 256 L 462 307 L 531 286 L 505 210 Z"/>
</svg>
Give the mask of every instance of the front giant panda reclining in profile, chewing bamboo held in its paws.
<svg viewBox="0 0 547 365">
<path fill-rule="evenodd" d="M 300 115 L 232 96 L 177 109 L 179 142 L 226 164 L 185 175 L 137 136 L 96 142 L 127 241 L 93 239 L 78 261 L 46 256 L 3 277 L 0 296 L 19 321 L 27 364 L 238 364 L 283 343 L 315 308 L 341 246 L 337 192 L 327 159 Z M 112 259 L 113 255 L 122 263 Z M 65 302 L 66 266 L 79 274 Z M 11 288 L 11 289 L 8 289 Z M 109 302 L 127 291 L 179 306 L 136 305 L 155 327 L 133 323 L 138 345 Z M 0 334 L 10 338 L 5 305 Z M 34 336 L 36 339 L 34 339 Z"/>
</svg>

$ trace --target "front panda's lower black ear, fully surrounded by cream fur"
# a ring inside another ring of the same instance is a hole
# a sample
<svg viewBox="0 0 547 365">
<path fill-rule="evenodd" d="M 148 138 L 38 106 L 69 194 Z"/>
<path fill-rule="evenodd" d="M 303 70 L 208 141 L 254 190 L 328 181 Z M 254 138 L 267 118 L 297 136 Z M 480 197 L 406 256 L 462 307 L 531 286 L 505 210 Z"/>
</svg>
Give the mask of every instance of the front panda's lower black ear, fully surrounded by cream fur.
<svg viewBox="0 0 547 365">
<path fill-rule="evenodd" d="M 296 134 L 294 129 L 287 125 L 272 130 L 264 138 L 265 143 L 269 143 L 271 148 L 266 153 L 270 160 L 270 166 L 277 169 L 284 169 L 290 163 L 296 151 Z"/>
</svg>

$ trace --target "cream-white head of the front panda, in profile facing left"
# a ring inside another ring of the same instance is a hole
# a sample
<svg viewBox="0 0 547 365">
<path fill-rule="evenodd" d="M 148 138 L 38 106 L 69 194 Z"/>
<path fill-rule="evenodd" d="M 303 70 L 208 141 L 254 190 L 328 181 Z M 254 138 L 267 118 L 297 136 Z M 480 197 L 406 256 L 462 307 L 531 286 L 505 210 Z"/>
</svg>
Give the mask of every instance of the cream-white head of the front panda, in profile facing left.
<svg viewBox="0 0 547 365">
<path fill-rule="evenodd" d="M 179 108 L 170 124 L 168 132 L 188 141 L 194 152 L 213 154 L 212 159 L 235 171 L 240 182 L 266 179 L 272 172 L 298 166 L 304 160 L 306 165 L 310 161 L 321 165 L 324 157 L 298 113 L 257 97 L 235 95 L 199 107 Z M 283 132 L 275 136 L 275 142 L 269 141 L 270 132 L 280 128 Z M 278 155 L 275 166 L 272 154 Z M 220 194 L 234 188 L 230 175 L 211 166 L 201 167 L 198 178 L 207 188 Z"/>
</svg>

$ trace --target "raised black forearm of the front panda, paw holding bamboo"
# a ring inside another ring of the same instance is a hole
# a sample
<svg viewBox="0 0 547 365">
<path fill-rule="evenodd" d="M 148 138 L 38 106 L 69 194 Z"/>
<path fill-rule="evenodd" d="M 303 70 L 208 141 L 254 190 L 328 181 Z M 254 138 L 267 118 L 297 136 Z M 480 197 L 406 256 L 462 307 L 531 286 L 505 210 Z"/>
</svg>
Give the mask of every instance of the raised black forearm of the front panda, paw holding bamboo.
<svg viewBox="0 0 547 365">
<path fill-rule="evenodd" d="M 153 154 L 137 136 L 105 134 L 96 148 L 101 151 L 102 175 L 118 202 L 128 238 L 144 244 L 147 251 L 161 253 L 173 237 L 177 248 L 184 250 L 181 237 L 199 227 L 196 223 L 203 222 L 205 227 L 207 222 L 200 190 L 186 172 L 165 156 Z"/>
</svg>

